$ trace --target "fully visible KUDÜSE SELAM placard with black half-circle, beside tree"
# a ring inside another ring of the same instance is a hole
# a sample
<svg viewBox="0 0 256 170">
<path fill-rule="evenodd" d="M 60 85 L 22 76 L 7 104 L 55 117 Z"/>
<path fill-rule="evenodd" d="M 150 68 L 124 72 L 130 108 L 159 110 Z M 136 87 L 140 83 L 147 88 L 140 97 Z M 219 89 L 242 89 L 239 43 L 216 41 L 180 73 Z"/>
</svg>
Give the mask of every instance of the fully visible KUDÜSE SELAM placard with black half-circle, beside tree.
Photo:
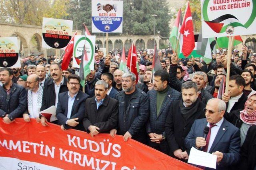
<svg viewBox="0 0 256 170">
<path fill-rule="evenodd" d="M 42 47 L 65 49 L 72 37 L 73 21 L 43 18 Z"/>
</svg>

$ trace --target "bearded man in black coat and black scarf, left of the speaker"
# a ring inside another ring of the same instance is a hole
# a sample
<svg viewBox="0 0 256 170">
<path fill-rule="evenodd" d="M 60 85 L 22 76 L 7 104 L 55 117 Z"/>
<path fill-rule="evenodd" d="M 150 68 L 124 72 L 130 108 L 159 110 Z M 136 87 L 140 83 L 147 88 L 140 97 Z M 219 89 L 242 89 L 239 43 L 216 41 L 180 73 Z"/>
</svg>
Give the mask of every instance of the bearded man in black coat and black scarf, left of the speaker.
<svg viewBox="0 0 256 170">
<path fill-rule="evenodd" d="M 182 161 L 188 159 L 184 139 L 196 119 L 205 117 L 205 104 L 198 98 L 198 86 L 188 81 L 182 84 L 182 99 L 172 102 L 165 123 L 166 138 L 170 147 L 169 155 Z"/>
</svg>

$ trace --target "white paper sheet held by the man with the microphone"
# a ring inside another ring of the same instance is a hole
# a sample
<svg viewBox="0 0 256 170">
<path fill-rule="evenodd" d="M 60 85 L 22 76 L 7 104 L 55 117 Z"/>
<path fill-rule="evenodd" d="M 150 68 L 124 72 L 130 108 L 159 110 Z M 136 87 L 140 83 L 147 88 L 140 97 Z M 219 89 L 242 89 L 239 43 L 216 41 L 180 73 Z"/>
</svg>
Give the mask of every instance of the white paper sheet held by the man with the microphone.
<svg viewBox="0 0 256 170">
<path fill-rule="evenodd" d="M 217 155 L 213 155 L 194 147 L 191 148 L 188 163 L 216 169 Z"/>
</svg>

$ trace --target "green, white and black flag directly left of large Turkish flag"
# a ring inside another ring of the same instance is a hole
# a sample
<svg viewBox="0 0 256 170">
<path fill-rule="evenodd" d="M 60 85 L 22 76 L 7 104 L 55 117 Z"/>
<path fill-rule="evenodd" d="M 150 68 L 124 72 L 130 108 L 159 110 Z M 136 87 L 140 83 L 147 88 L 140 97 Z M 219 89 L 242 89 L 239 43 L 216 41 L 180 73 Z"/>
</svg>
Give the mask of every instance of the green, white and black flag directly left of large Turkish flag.
<svg viewBox="0 0 256 170">
<path fill-rule="evenodd" d="M 182 13 L 181 13 L 181 8 L 178 11 L 177 18 L 175 20 L 174 26 L 172 27 L 172 32 L 170 34 L 169 41 L 172 44 L 172 49 L 175 50 L 177 49 L 178 53 L 180 53 L 180 47 L 182 47 L 181 43 L 182 42 L 182 35 L 180 35 L 180 27 L 182 25 Z M 178 37 L 180 36 L 180 40 L 178 42 Z M 177 43 L 178 42 L 178 43 Z M 176 45 L 178 47 L 176 48 Z"/>
</svg>

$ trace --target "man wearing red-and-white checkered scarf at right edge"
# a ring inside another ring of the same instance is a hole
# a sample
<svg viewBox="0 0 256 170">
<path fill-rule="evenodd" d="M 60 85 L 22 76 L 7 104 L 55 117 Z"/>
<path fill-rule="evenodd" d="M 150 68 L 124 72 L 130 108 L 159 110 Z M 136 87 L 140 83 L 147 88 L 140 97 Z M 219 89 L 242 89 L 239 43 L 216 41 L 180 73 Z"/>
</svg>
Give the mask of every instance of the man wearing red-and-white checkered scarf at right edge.
<svg viewBox="0 0 256 170">
<path fill-rule="evenodd" d="M 244 143 L 247 131 L 252 125 L 256 125 L 256 92 L 248 96 L 242 111 L 235 110 L 224 117 L 240 129 L 241 146 Z"/>
</svg>

